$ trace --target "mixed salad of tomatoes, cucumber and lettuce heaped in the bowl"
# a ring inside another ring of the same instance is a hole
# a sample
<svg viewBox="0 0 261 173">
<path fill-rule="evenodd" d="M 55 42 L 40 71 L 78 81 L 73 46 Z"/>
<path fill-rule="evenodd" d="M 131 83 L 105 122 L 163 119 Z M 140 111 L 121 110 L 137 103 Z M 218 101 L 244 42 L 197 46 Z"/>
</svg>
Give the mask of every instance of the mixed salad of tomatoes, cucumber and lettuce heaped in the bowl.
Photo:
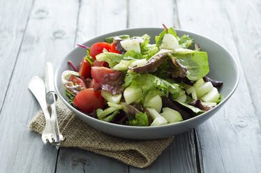
<svg viewBox="0 0 261 173">
<path fill-rule="evenodd" d="M 163 24 L 163 27 L 165 25 Z M 87 50 L 79 68 L 62 74 L 68 102 L 101 121 L 127 126 L 161 126 L 190 119 L 221 101 L 211 80 L 207 52 L 172 27 L 155 37 L 105 38 Z"/>
</svg>

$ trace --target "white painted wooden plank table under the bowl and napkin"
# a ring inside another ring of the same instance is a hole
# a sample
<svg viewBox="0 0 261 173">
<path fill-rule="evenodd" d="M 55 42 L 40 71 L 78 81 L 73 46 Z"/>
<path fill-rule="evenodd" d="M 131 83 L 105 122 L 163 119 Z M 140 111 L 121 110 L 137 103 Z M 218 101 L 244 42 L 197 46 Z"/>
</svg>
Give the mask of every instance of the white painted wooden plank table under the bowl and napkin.
<svg viewBox="0 0 261 173">
<path fill-rule="evenodd" d="M 0 172 L 261 172 L 261 1 L 0 0 Z M 224 45 L 241 80 L 206 123 L 177 135 L 137 169 L 81 149 L 43 145 L 28 124 L 40 110 L 28 89 L 83 43 L 135 27 L 176 27 Z"/>
</svg>

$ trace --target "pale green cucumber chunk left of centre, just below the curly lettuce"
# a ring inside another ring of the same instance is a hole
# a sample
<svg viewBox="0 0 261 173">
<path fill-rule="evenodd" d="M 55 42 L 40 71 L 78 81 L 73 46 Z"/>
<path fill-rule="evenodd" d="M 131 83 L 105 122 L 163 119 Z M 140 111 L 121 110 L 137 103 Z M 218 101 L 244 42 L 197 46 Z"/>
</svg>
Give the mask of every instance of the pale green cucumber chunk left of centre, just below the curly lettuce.
<svg viewBox="0 0 261 173">
<path fill-rule="evenodd" d="M 142 97 L 142 89 L 128 87 L 124 90 L 124 99 L 126 103 L 129 105 Z"/>
</svg>

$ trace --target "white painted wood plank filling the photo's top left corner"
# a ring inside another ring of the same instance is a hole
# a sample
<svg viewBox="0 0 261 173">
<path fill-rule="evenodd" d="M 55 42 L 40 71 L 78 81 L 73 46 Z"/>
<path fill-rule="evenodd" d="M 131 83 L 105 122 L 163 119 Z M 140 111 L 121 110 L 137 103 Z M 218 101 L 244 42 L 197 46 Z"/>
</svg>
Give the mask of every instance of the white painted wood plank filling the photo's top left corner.
<svg viewBox="0 0 261 173">
<path fill-rule="evenodd" d="M 27 27 L 32 0 L 0 1 L 0 110 Z"/>
</svg>

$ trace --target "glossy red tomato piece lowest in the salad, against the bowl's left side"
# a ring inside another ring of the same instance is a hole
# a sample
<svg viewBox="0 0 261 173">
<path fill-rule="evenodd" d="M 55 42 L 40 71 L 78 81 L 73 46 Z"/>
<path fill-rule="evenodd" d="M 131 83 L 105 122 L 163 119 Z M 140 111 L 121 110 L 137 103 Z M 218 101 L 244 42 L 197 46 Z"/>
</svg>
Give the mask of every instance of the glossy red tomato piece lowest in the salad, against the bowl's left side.
<svg viewBox="0 0 261 173">
<path fill-rule="evenodd" d="M 94 89 L 84 89 L 75 96 L 73 103 L 86 113 L 91 113 L 97 109 L 103 109 L 104 98 L 100 93 L 100 90 L 94 92 Z"/>
</svg>

